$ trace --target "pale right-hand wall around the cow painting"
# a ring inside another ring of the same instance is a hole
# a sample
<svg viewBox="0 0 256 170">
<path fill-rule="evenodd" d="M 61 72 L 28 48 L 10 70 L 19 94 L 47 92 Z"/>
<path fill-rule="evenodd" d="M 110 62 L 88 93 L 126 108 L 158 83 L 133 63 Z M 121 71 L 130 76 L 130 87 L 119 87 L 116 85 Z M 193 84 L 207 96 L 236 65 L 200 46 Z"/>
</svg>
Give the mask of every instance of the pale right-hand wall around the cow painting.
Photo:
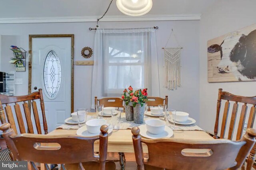
<svg viewBox="0 0 256 170">
<path fill-rule="evenodd" d="M 255 24 L 255 6 L 255 0 L 218 0 L 202 14 L 200 21 L 200 127 L 209 132 L 214 131 L 218 88 L 236 95 L 255 96 L 256 82 L 208 83 L 207 40 Z"/>
</svg>

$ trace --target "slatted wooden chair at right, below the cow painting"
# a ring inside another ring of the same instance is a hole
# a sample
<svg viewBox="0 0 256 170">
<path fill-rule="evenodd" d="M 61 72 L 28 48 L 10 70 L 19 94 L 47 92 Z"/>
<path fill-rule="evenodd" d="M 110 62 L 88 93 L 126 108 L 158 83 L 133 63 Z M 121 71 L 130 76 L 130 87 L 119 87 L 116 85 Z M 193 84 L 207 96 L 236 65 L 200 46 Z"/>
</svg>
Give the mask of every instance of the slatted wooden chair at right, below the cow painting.
<svg viewBox="0 0 256 170">
<path fill-rule="evenodd" d="M 225 106 L 224 106 L 224 113 L 222 117 L 222 123 L 221 123 L 221 130 L 220 130 L 220 136 L 218 137 L 218 128 L 219 128 L 219 117 L 220 117 L 220 108 L 222 100 L 226 100 Z M 256 96 L 253 97 L 245 97 L 245 96 L 237 96 L 234 94 L 231 94 L 229 92 L 225 92 L 222 90 L 222 88 L 219 89 L 218 93 L 218 101 L 217 101 L 217 113 L 216 113 L 216 120 L 215 120 L 215 126 L 214 126 L 214 138 L 224 138 L 225 132 L 226 132 L 226 126 L 228 122 L 228 114 L 230 110 L 230 101 L 234 102 L 232 112 L 231 112 L 231 118 L 230 118 L 230 124 L 228 128 L 228 136 L 227 138 L 229 140 L 232 140 L 234 131 L 236 132 L 236 140 L 239 140 L 242 137 L 243 130 L 244 130 L 244 124 L 246 120 L 247 115 L 247 108 L 248 104 L 251 104 L 252 107 L 250 108 L 247 127 L 246 128 L 253 128 L 254 120 L 255 120 L 255 113 L 256 113 Z M 239 123 L 237 127 L 235 128 L 236 118 L 237 118 L 237 112 L 238 112 L 238 104 L 242 103 L 242 110 L 240 113 Z M 248 156 L 248 162 L 247 166 L 253 166 L 254 164 L 254 156 L 256 154 L 256 145 L 252 148 L 252 153 Z"/>
</svg>

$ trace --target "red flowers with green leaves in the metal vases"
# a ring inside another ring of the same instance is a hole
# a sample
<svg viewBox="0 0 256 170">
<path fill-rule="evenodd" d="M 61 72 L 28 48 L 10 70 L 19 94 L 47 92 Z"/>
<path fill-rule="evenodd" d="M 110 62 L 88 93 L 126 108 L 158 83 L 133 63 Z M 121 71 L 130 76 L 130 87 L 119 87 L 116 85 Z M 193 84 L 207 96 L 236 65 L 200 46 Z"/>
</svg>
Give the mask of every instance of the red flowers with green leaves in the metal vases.
<svg viewBox="0 0 256 170">
<path fill-rule="evenodd" d="M 141 106 L 143 106 L 143 104 L 147 100 L 148 89 L 144 88 L 143 90 L 136 90 L 135 92 L 133 92 L 133 88 L 132 86 L 130 86 L 128 90 L 124 89 L 124 94 L 122 94 L 122 99 L 125 101 L 126 106 L 129 104 L 129 102 L 132 102 L 133 107 L 135 107 L 136 104 L 140 104 Z"/>
</svg>

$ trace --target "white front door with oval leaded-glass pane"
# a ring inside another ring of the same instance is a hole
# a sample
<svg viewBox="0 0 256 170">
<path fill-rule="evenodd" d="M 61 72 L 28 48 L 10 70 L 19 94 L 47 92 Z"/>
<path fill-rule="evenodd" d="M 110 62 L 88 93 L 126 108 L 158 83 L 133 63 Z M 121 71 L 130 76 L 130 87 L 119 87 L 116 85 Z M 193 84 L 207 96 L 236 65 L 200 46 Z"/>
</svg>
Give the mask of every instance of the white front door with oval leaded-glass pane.
<svg viewBox="0 0 256 170">
<path fill-rule="evenodd" d="M 48 132 L 70 117 L 71 73 L 71 37 L 32 38 L 32 92 L 43 89 Z"/>
</svg>

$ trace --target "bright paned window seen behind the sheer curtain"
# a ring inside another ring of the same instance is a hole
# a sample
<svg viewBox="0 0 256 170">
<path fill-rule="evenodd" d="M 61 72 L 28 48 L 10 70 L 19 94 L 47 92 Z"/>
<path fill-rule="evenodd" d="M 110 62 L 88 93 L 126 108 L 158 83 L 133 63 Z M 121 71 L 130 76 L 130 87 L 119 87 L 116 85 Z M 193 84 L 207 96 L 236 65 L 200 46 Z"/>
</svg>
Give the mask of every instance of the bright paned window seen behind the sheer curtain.
<svg viewBox="0 0 256 170">
<path fill-rule="evenodd" d="M 112 36 L 112 37 L 111 37 Z M 134 89 L 145 88 L 145 52 L 143 38 L 130 35 L 109 35 L 105 52 L 105 88 L 106 94 L 120 94 L 130 85 Z"/>
</svg>

